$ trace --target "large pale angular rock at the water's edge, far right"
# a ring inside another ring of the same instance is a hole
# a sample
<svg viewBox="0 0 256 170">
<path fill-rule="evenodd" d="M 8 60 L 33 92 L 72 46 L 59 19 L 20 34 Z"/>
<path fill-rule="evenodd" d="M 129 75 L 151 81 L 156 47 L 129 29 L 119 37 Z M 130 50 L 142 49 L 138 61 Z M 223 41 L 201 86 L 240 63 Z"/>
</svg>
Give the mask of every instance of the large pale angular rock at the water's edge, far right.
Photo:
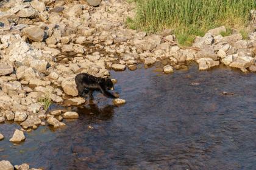
<svg viewBox="0 0 256 170">
<path fill-rule="evenodd" d="M 246 72 L 246 68 L 252 65 L 253 58 L 251 56 L 238 56 L 235 61 L 229 64 L 230 67 L 240 69 L 242 72 Z"/>
</svg>

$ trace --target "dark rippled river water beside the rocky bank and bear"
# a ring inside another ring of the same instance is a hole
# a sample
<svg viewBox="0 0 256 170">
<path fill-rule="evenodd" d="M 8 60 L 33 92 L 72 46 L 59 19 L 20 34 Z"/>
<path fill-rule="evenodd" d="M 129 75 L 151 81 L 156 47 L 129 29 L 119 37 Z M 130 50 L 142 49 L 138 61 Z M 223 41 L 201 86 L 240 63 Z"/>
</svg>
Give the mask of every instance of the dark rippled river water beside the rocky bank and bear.
<svg viewBox="0 0 256 170">
<path fill-rule="evenodd" d="M 73 108 L 78 120 L 38 127 L 17 146 L 9 138 L 20 127 L 0 124 L 0 159 L 44 169 L 256 169 L 255 74 L 193 65 L 112 78 L 126 104 L 115 107 L 98 94 L 94 104 Z"/>
</svg>

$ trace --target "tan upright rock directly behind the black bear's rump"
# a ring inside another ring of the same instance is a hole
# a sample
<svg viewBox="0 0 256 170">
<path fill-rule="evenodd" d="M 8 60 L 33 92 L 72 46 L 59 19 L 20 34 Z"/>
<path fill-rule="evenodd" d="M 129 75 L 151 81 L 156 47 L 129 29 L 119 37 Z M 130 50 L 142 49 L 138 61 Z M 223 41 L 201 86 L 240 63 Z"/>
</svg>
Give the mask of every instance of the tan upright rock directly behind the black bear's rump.
<svg viewBox="0 0 256 170">
<path fill-rule="evenodd" d="M 74 78 L 66 78 L 65 80 L 63 80 L 62 89 L 67 95 L 71 95 L 73 97 L 76 97 L 78 95 L 76 82 L 74 81 Z"/>
</svg>

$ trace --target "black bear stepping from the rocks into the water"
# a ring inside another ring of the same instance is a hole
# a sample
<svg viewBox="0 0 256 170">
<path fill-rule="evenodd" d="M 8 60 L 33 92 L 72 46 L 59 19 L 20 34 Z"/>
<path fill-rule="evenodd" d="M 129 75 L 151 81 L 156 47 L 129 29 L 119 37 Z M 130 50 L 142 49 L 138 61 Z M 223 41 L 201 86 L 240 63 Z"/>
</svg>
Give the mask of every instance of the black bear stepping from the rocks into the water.
<svg viewBox="0 0 256 170">
<path fill-rule="evenodd" d="M 91 98 L 93 98 L 93 92 L 99 91 L 105 97 L 118 98 L 108 92 L 108 90 L 114 89 L 114 84 L 110 78 L 94 77 L 88 73 L 79 73 L 76 75 L 75 81 L 80 97 L 85 97 L 85 95 L 88 94 Z"/>
</svg>

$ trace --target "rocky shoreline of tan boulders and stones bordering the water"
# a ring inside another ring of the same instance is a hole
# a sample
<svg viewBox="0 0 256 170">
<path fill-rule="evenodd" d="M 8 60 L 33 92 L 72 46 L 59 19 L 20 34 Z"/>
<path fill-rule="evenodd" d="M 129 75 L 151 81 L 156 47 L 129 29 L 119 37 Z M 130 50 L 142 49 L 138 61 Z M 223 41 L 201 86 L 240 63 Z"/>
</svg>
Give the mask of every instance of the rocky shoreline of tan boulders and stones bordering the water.
<svg viewBox="0 0 256 170">
<path fill-rule="evenodd" d="M 11 0 L 0 5 L 0 123 L 17 121 L 22 127 L 12 142 L 23 141 L 23 132 L 46 122 L 61 127 L 63 118 L 79 117 L 64 110 L 46 112 L 40 102 L 49 98 L 59 104 L 85 103 L 77 97 L 77 73 L 105 77 L 110 69 L 136 70 L 140 63 L 160 63 L 164 73 L 172 73 L 186 69 L 187 61 L 198 63 L 199 70 L 223 63 L 256 72 L 255 30 L 243 39 L 235 30 L 223 37 L 226 28 L 218 27 L 185 48 L 176 44 L 172 30 L 148 35 L 127 29 L 134 4 L 126 1 Z M 252 15 L 252 25 L 255 18 Z"/>
</svg>

